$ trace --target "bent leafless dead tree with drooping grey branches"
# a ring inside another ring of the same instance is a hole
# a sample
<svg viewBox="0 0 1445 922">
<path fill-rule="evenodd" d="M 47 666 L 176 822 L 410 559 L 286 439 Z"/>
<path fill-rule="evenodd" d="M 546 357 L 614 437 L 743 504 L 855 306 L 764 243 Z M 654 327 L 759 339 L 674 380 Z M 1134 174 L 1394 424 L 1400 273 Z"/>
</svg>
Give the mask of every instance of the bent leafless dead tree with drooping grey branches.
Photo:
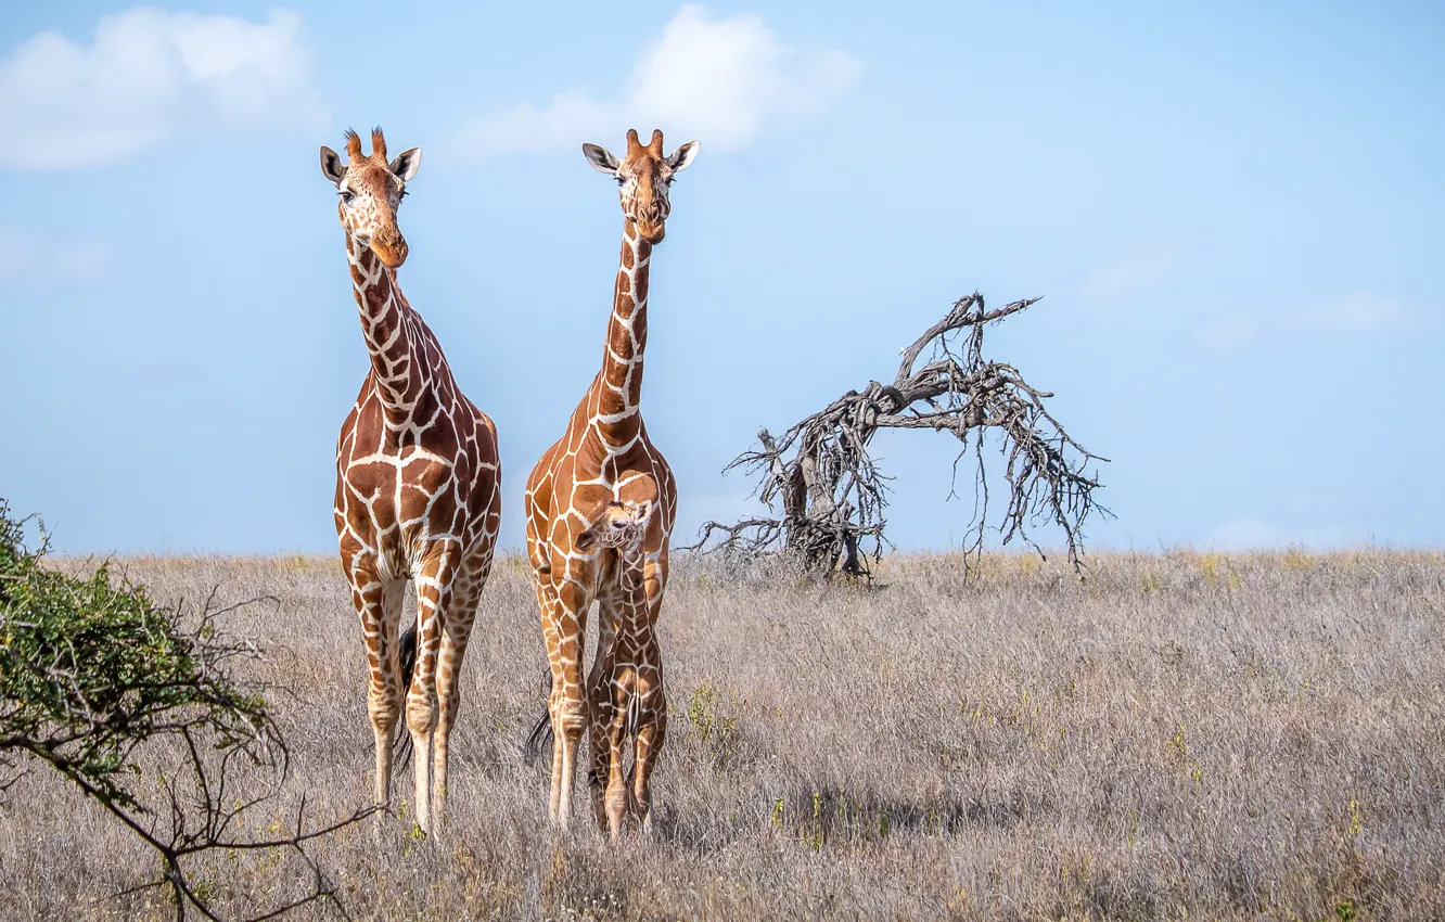
<svg viewBox="0 0 1445 922">
<path fill-rule="evenodd" d="M 880 429 L 933 429 L 962 442 L 954 460 L 955 488 L 959 461 L 970 454 L 975 460 L 974 517 L 964 543 L 971 559 L 981 553 L 988 525 L 984 439 L 996 434 L 1009 486 L 998 522 L 1003 543 L 1017 536 L 1042 556 L 1029 526 L 1058 525 L 1069 562 L 1082 574 L 1084 523 L 1091 513 L 1110 514 L 1094 500 L 1100 483 L 1087 468 L 1107 458 L 1085 449 L 1049 415 L 1045 400 L 1052 393 L 1029 384 L 1013 366 L 983 356 L 984 328 L 1036 301 L 988 311 L 974 292 L 903 350 L 892 383 L 868 382 L 861 392 L 850 390 L 780 436 L 760 431 L 759 447 L 734 458 L 724 473 L 741 468 L 760 475 L 754 496 L 769 514 L 731 525 L 708 522 L 692 548 L 743 558 L 785 551 L 814 574 L 866 574 L 866 558 L 877 561 L 887 543 L 889 493 L 889 477 L 868 444 Z M 868 540 L 873 546 L 864 549 Z"/>
</svg>

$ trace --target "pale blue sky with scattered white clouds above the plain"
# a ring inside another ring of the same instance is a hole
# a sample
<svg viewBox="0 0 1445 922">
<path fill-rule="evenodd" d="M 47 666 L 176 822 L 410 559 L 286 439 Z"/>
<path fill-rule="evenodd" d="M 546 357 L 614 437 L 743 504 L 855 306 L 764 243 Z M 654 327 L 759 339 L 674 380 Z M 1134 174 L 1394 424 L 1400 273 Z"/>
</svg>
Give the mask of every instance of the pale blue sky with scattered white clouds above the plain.
<svg viewBox="0 0 1445 922">
<path fill-rule="evenodd" d="M 0 496 L 69 552 L 334 548 L 366 374 L 316 147 L 423 160 L 400 282 L 496 419 L 503 538 L 601 358 L 584 140 L 702 150 L 653 260 L 679 536 L 958 296 L 1111 458 L 1091 546 L 1438 546 L 1445 7 L 23 4 L 0 23 Z M 946 436 L 886 434 L 946 548 Z M 1048 543 L 1053 536 L 1040 535 Z"/>
</svg>

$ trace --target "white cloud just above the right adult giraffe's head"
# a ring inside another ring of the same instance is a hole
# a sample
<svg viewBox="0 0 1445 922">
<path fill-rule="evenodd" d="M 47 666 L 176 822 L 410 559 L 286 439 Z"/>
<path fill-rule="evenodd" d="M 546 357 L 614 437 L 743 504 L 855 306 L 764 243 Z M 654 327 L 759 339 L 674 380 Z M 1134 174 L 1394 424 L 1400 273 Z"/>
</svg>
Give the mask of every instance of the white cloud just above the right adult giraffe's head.
<svg viewBox="0 0 1445 922">
<path fill-rule="evenodd" d="M 627 87 L 608 100 L 558 92 L 538 108 L 517 103 L 473 119 L 452 140 L 457 156 L 616 143 L 626 129 L 653 127 L 669 142 L 696 137 L 705 147 L 744 147 L 766 126 L 815 113 L 857 84 L 861 65 L 841 51 L 782 45 L 759 16 L 709 19 L 683 6 L 662 38 L 644 45 Z"/>
</svg>

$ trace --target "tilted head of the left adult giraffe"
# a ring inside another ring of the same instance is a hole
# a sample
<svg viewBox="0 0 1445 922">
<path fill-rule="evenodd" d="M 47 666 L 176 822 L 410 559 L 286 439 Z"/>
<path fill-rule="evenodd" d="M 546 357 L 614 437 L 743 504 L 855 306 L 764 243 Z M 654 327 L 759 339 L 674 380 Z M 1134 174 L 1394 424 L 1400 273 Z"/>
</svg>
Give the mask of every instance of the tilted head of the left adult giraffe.
<svg viewBox="0 0 1445 922">
<path fill-rule="evenodd" d="M 396 227 L 396 210 L 420 165 L 420 147 L 403 150 L 387 162 L 381 129 L 371 132 L 371 156 L 361 156 L 361 139 L 347 132 L 345 165 L 335 150 L 321 147 L 321 172 L 341 194 L 341 225 L 392 269 L 406 262 L 406 238 Z"/>
</svg>

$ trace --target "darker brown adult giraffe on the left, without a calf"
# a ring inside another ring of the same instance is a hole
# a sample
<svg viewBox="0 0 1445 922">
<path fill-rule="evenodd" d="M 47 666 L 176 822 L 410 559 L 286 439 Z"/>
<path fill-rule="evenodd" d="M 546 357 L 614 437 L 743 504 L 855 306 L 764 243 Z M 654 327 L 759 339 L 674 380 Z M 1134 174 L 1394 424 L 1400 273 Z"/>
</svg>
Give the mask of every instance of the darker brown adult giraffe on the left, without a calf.
<svg viewBox="0 0 1445 922">
<path fill-rule="evenodd" d="M 420 147 L 387 162 L 381 129 L 371 155 L 347 132 L 347 158 L 321 149 L 335 184 L 351 286 L 371 370 L 337 439 L 335 523 L 341 565 L 361 619 L 376 734 L 376 802 L 392 789 L 392 734 L 402 701 L 415 747 L 416 824 L 435 827 L 447 795 L 447 743 L 477 598 L 501 519 L 497 429 L 462 395 L 436 337 L 402 295 L 407 246 L 396 225 Z M 399 662 L 406 581 L 416 584 L 413 673 Z"/>
</svg>

